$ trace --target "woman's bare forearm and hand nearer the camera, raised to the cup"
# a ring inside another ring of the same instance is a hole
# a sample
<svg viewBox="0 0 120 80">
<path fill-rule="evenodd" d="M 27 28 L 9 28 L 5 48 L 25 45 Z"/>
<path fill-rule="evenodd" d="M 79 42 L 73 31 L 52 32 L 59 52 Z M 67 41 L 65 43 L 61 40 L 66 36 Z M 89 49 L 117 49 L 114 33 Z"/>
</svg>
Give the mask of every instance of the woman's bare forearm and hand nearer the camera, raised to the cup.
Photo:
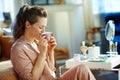
<svg viewBox="0 0 120 80">
<path fill-rule="evenodd" d="M 38 55 L 32 70 L 33 80 L 39 80 L 45 66 L 48 42 L 44 37 L 40 37 L 37 43 L 40 54 Z"/>
</svg>

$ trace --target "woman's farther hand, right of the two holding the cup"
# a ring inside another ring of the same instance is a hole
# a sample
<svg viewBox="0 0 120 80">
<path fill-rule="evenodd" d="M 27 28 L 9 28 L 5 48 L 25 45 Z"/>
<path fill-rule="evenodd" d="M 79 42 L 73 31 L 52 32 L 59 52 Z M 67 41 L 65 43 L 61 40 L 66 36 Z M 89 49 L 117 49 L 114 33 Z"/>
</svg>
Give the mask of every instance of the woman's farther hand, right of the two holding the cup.
<svg viewBox="0 0 120 80">
<path fill-rule="evenodd" d="M 50 41 L 48 42 L 48 53 L 52 53 L 57 46 L 54 36 L 51 36 Z"/>
</svg>

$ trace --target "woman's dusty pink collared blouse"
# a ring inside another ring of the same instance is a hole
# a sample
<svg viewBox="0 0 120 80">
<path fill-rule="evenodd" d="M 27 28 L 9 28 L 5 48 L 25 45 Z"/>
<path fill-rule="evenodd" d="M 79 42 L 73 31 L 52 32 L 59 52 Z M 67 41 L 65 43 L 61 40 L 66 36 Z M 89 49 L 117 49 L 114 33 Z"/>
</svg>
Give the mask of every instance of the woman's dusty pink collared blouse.
<svg viewBox="0 0 120 80">
<path fill-rule="evenodd" d="M 23 36 L 12 45 L 11 61 L 20 79 L 32 80 L 31 72 L 39 54 L 36 43 L 27 42 Z M 50 69 L 47 61 L 45 61 L 45 68 L 40 80 L 54 80 L 54 78 L 55 73 Z"/>
</svg>

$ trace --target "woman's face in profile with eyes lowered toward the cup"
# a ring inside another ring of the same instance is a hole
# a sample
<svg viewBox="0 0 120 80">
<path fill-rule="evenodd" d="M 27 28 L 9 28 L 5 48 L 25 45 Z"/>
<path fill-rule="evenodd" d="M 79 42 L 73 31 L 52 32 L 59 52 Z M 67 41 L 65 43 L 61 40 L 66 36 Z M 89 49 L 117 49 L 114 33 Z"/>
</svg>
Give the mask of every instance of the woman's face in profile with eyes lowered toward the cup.
<svg viewBox="0 0 120 80">
<path fill-rule="evenodd" d="M 45 31 L 46 25 L 47 18 L 38 17 L 38 21 L 30 27 L 31 36 L 38 39 L 38 37 Z"/>
</svg>

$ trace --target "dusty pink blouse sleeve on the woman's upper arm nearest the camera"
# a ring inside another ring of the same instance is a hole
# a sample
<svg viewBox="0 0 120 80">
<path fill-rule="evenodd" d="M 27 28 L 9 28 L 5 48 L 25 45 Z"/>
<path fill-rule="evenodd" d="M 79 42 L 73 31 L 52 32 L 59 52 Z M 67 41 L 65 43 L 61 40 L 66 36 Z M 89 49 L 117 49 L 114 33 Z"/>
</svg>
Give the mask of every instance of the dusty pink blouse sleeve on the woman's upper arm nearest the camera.
<svg viewBox="0 0 120 80">
<path fill-rule="evenodd" d="M 14 69 L 22 80 L 32 80 L 31 72 L 33 64 L 22 47 L 14 46 L 11 48 L 11 61 Z"/>
</svg>

